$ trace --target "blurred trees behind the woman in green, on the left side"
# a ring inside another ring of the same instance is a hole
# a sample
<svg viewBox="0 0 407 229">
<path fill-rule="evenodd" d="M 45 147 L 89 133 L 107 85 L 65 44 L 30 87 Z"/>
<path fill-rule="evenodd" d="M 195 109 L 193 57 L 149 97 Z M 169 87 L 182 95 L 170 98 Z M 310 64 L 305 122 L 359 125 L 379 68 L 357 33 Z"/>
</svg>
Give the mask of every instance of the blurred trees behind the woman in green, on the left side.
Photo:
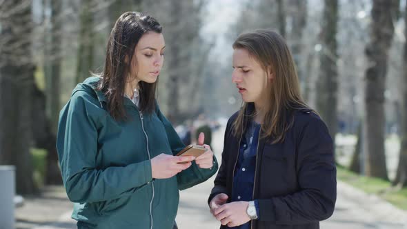
<svg viewBox="0 0 407 229">
<path fill-rule="evenodd" d="M 173 123 L 202 112 L 194 85 L 206 78 L 212 46 L 199 34 L 204 7 L 204 1 L 0 1 L 0 164 L 17 167 L 17 192 L 38 191 L 32 147 L 48 152 L 45 182 L 61 183 L 59 110 L 76 83 L 101 71 L 108 35 L 123 12 L 150 12 L 163 25 L 171 54 L 160 76 L 162 110 Z"/>
</svg>

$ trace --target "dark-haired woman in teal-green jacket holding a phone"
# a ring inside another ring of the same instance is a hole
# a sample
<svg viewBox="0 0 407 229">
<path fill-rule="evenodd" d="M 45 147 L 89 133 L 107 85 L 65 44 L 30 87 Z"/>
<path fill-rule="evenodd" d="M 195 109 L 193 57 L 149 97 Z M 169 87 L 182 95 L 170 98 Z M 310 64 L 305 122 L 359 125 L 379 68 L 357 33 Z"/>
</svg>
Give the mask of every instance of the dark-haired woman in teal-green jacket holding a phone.
<svg viewBox="0 0 407 229">
<path fill-rule="evenodd" d="M 103 72 L 79 83 L 61 110 L 59 164 L 78 228 L 176 228 L 179 190 L 217 171 L 209 146 L 196 159 L 175 156 L 184 145 L 155 99 L 161 30 L 151 16 L 122 14 Z"/>
</svg>

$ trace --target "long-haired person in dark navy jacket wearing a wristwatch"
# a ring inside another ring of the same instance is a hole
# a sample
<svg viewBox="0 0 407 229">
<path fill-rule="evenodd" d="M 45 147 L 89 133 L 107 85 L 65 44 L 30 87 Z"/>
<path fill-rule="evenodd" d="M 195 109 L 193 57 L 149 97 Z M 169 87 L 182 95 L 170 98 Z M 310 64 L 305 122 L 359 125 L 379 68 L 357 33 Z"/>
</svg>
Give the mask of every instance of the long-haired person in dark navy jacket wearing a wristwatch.
<svg viewBox="0 0 407 229">
<path fill-rule="evenodd" d="M 333 143 L 299 92 L 284 39 L 270 30 L 233 43 L 232 82 L 244 101 L 230 117 L 208 203 L 221 228 L 319 228 L 336 201 Z"/>
</svg>

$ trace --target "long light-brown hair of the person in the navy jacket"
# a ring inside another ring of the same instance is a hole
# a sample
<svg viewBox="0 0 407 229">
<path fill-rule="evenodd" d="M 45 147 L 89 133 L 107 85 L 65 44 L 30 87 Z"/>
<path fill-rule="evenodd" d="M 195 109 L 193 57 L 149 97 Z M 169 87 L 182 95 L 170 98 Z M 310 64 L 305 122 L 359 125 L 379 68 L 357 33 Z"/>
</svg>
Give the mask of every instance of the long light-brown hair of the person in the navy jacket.
<svg viewBox="0 0 407 229">
<path fill-rule="evenodd" d="M 247 50 L 264 71 L 268 72 L 269 68 L 273 70 L 275 79 L 268 92 L 270 106 L 261 125 L 261 137 L 270 137 L 272 143 L 284 141 L 284 135 L 293 121 L 288 120 L 288 116 L 295 110 L 310 110 L 301 97 L 295 63 L 286 41 L 272 30 L 256 30 L 241 34 L 232 47 Z M 233 123 L 235 135 L 244 132 L 247 108 L 248 103 L 244 103 Z"/>
</svg>

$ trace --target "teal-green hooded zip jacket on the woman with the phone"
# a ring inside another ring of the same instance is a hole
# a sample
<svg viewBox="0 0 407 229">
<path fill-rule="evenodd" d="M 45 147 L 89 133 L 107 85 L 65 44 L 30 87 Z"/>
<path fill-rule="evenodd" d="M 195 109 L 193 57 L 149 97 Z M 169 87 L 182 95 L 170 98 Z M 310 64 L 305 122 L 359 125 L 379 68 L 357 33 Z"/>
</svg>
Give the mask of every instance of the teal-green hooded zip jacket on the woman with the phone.
<svg viewBox="0 0 407 229">
<path fill-rule="evenodd" d="M 175 155 L 183 143 L 156 103 L 142 114 L 123 97 L 128 121 L 115 121 L 106 97 L 96 90 L 99 77 L 79 83 L 59 115 L 57 150 L 63 184 L 75 202 L 78 228 L 172 228 L 179 190 L 215 174 L 196 163 L 169 179 L 152 179 L 150 159 Z"/>
</svg>

